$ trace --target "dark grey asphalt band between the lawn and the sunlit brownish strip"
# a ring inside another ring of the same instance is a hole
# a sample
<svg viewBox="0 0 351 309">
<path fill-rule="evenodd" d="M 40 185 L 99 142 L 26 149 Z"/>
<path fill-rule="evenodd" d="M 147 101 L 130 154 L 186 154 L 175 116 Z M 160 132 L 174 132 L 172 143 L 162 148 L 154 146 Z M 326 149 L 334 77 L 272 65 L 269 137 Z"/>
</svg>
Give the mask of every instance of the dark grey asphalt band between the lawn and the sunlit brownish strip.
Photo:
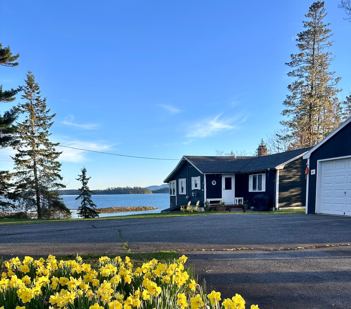
<svg viewBox="0 0 351 309">
<path fill-rule="evenodd" d="M 351 218 L 320 215 L 201 215 L 0 226 L 0 243 L 165 242 L 216 245 L 351 241 Z"/>
</svg>

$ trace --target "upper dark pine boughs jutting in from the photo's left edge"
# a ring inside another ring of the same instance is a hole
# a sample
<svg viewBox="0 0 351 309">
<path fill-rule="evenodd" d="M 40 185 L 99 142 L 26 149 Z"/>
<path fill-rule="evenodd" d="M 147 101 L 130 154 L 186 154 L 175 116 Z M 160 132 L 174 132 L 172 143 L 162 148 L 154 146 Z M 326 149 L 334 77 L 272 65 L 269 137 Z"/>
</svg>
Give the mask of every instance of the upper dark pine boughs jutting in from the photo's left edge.
<svg viewBox="0 0 351 309">
<path fill-rule="evenodd" d="M 0 43 L 0 66 L 5 67 L 15 67 L 18 66 L 18 62 L 15 62 L 20 54 L 12 55 L 9 46 L 2 48 L 2 43 Z M 2 91 L 2 85 L 0 85 L 0 102 L 8 103 L 15 100 L 15 95 L 21 91 L 22 87 L 17 89 L 11 89 Z M 16 126 L 13 125 L 14 121 L 17 119 L 18 110 L 12 107 L 9 111 L 4 112 L 0 115 L 0 148 L 13 145 L 16 141 L 12 138 L 12 135 L 16 132 Z"/>
</svg>

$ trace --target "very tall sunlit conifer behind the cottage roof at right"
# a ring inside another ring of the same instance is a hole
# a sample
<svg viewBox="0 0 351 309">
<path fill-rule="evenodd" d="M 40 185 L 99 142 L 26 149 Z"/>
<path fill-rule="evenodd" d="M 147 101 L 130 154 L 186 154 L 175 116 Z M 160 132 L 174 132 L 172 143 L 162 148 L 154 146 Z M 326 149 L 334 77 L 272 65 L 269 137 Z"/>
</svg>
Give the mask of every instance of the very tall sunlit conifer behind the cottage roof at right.
<svg viewBox="0 0 351 309">
<path fill-rule="evenodd" d="M 288 120 L 280 123 L 290 129 L 293 142 L 290 148 L 299 149 L 316 145 L 342 121 L 342 108 L 337 98 L 336 86 L 340 77 L 329 70 L 332 61 L 331 30 L 323 19 L 324 1 L 314 2 L 305 15 L 304 30 L 297 34 L 299 53 L 291 55 L 286 65 L 293 68 L 287 75 L 297 77 L 288 86 L 282 115 Z"/>
</svg>

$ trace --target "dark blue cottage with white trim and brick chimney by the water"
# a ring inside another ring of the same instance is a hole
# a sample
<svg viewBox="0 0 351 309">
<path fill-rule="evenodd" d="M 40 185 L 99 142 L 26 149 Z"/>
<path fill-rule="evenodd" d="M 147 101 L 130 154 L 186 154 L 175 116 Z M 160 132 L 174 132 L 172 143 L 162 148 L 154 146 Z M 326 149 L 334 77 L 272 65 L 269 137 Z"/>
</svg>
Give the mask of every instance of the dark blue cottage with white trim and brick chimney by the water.
<svg viewBox="0 0 351 309">
<path fill-rule="evenodd" d="M 226 205 L 253 205 L 257 194 L 269 197 L 268 207 L 305 206 L 308 149 L 287 151 L 267 156 L 265 146 L 258 157 L 183 156 L 164 180 L 170 185 L 170 208 L 179 210 L 188 201 L 200 206 L 204 201 Z"/>
</svg>

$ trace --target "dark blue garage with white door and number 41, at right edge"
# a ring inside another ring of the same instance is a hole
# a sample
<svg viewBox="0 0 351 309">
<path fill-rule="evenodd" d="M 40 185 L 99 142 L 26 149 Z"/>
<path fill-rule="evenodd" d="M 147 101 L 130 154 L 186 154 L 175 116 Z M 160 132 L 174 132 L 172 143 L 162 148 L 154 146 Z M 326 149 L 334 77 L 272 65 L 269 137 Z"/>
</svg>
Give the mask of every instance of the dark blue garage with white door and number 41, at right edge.
<svg viewBox="0 0 351 309">
<path fill-rule="evenodd" d="M 351 216 L 351 118 L 304 157 L 306 213 Z"/>
</svg>

